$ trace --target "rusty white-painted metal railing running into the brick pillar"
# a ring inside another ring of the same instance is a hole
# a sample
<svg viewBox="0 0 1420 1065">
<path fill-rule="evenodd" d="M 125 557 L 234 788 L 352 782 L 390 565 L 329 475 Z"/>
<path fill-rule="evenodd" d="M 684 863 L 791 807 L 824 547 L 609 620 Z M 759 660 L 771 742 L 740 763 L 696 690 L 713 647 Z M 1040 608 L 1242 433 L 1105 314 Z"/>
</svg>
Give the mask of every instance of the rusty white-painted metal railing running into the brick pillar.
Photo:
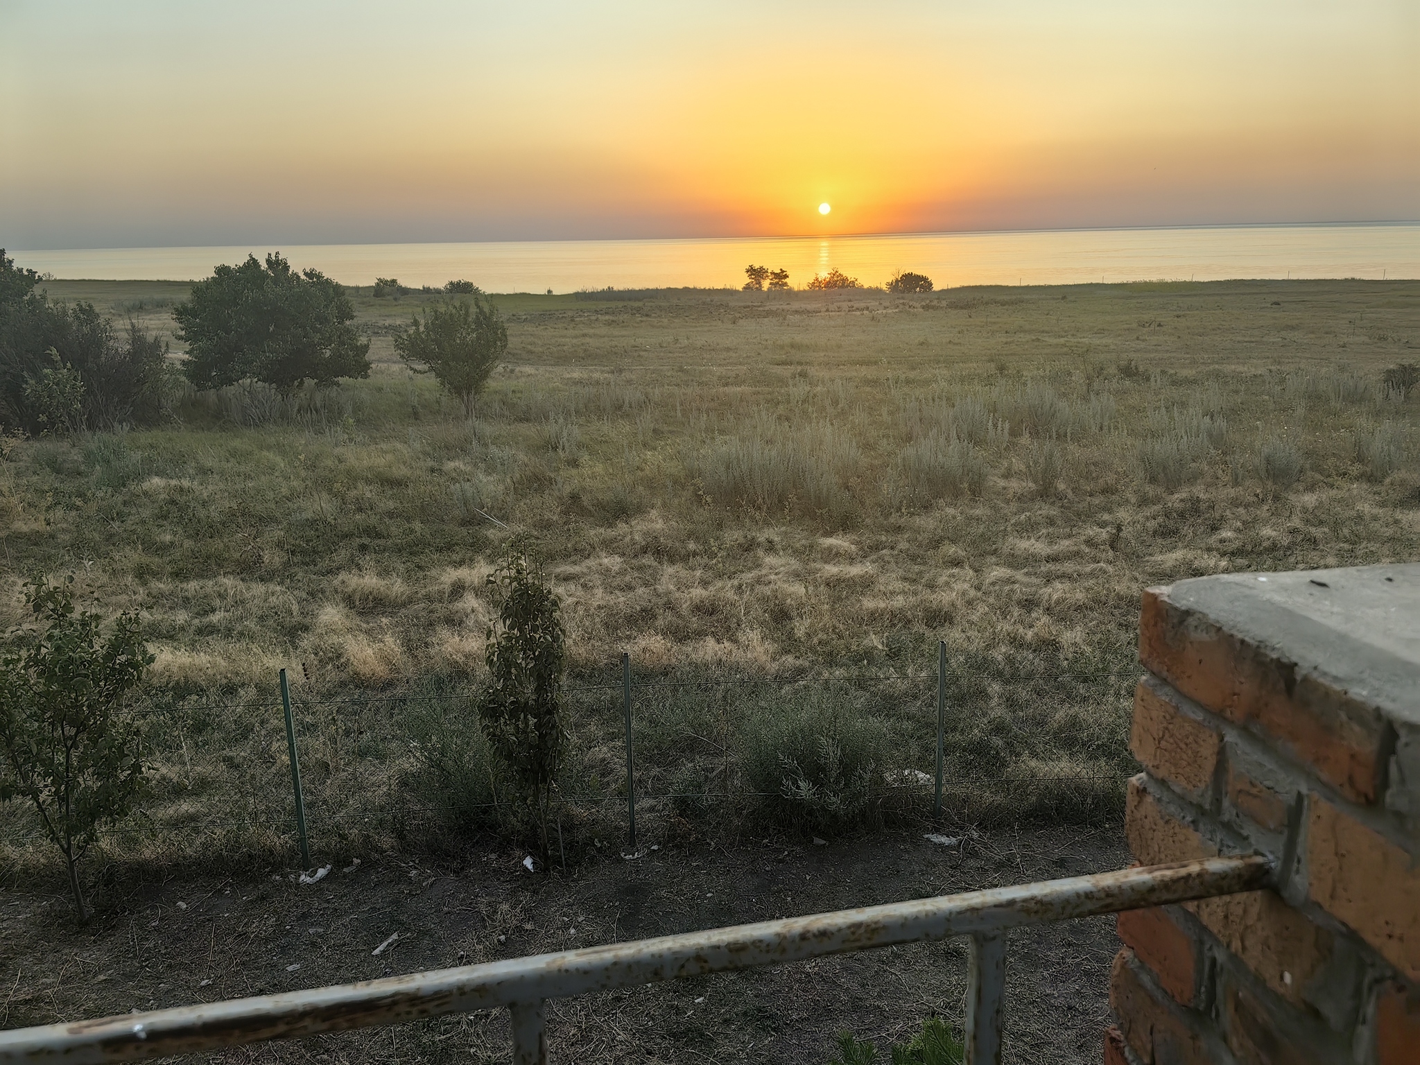
<svg viewBox="0 0 1420 1065">
<path fill-rule="evenodd" d="M 544 1003 L 970 936 L 967 1065 L 1001 1059 L 1005 933 L 1025 924 L 1265 888 L 1267 858 L 1206 858 L 785 917 L 253 998 L 0 1031 L 0 1062 L 101 1065 L 507 1007 L 514 1065 L 545 1065 Z"/>
</svg>

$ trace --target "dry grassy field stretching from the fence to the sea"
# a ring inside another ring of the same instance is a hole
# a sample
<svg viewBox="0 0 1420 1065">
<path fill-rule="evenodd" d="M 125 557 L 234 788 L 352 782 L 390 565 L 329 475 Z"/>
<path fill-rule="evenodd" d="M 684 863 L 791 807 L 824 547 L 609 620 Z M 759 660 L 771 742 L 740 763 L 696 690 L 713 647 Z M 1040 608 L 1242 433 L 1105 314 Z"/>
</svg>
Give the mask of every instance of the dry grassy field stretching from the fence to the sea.
<svg viewBox="0 0 1420 1065">
<path fill-rule="evenodd" d="M 47 287 L 158 329 L 183 295 Z M 1417 359 L 1413 281 L 498 297 L 508 359 L 473 420 L 393 356 L 427 298 L 356 294 L 368 381 L 179 395 L 162 429 L 0 463 L 0 621 L 38 569 L 148 622 L 159 852 L 179 846 L 163 825 L 234 804 L 240 839 L 182 846 L 288 846 L 280 667 L 327 822 L 497 798 L 446 696 L 481 669 L 483 578 L 511 532 L 545 559 L 591 689 L 569 794 L 623 788 L 628 650 L 660 684 L 638 696 L 643 787 L 690 795 L 653 814 L 693 819 L 716 791 L 774 805 L 797 774 L 808 798 L 778 812 L 815 831 L 932 771 L 939 639 L 953 808 L 1095 816 L 1130 764 L 1140 588 L 1420 542 L 1420 393 L 1382 386 Z M 452 781 L 450 761 L 479 771 Z"/>
</svg>

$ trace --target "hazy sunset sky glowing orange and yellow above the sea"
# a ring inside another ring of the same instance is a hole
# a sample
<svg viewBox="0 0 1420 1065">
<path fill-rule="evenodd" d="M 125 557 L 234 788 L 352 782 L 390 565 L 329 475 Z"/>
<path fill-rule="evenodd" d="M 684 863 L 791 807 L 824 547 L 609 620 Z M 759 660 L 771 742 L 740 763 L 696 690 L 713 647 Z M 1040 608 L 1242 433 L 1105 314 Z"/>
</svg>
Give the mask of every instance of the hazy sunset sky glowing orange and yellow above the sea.
<svg viewBox="0 0 1420 1065">
<path fill-rule="evenodd" d="M 1416 0 L 0 0 L 0 247 L 1416 219 Z"/>
</svg>

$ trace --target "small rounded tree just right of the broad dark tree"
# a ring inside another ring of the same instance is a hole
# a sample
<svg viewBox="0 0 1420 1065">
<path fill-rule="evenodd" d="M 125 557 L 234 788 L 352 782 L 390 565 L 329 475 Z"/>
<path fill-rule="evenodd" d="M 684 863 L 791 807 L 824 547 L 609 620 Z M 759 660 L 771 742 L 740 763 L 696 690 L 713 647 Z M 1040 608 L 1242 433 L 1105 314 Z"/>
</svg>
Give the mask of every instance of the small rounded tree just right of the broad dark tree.
<svg viewBox="0 0 1420 1065">
<path fill-rule="evenodd" d="M 395 337 L 395 351 L 416 373 L 433 373 L 473 417 L 473 400 L 508 349 L 508 327 L 491 300 L 430 307 Z"/>
</svg>

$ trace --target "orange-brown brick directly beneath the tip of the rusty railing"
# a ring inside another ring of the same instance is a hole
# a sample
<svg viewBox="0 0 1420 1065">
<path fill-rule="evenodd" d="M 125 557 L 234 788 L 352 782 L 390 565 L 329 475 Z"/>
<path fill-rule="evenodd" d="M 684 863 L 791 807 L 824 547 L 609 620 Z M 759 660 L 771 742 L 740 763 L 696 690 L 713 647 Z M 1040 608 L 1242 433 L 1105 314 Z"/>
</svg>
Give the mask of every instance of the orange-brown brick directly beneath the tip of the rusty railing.
<svg viewBox="0 0 1420 1065">
<path fill-rule="evenodd" d="M 1302 1005 L 1304 991 L 1331 960 L 1335 939 L 1277 892 L 1245 892 L 1183 903 L 1258 978 Z"/>
</svg>

